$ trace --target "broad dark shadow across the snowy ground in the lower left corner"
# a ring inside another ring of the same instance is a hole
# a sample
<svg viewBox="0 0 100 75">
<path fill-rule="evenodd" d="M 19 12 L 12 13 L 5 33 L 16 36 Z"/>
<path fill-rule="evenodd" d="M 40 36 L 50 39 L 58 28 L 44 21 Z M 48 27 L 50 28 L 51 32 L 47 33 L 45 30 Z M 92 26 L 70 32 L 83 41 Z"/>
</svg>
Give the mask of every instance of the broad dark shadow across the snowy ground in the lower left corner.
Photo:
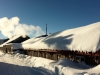
<svg viewBox="0 0 100 75">
<path fill-rule="evenodd" d="M 55 75 L 42 67 L 27 67 L 0 62 L 0 75 Z"/>
</svg>

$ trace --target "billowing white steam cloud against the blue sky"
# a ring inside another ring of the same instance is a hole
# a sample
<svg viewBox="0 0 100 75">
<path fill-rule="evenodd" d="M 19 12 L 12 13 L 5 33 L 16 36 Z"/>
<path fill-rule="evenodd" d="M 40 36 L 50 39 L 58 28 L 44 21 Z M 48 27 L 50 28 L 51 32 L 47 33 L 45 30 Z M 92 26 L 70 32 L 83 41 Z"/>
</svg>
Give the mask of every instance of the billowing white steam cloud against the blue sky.
<svg viewBox="0 0 100 75">
<path fill-rule="evenodd" d="M 14 35 L 28 35 L 36 37 L 44 34 L 43 30 L 39 26 L 20 24 L 20 19 L 18 17 L 12 17 L 8 19 L 7 17 L 0 18 L 0 30 L 2 34 L 8 38 Z"/>
</svg>

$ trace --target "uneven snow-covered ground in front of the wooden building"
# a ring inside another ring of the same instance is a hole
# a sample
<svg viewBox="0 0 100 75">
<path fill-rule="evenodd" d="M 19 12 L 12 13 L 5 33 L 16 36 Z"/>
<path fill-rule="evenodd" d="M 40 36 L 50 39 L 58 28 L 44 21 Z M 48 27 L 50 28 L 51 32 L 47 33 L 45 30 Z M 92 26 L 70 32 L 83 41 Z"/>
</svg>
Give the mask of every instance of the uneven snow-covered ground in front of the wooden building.
<svg viewBox="0 0 100 75">
<path fill-rule="evenodd" d="M 90 68 L 68 59 L 59 61 L 0 52 L 0 75 L 100 75 L 100 65 Z"/>
</svg>

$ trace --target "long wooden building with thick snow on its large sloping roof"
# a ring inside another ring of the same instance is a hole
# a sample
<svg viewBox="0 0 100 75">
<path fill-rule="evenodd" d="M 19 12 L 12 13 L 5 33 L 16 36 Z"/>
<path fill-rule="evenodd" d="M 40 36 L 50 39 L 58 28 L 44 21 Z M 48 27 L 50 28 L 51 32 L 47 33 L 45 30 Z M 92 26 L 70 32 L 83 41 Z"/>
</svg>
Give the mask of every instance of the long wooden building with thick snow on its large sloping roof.
<svg viewBox="0 0 100 75">
<path fill-rule="evenodd" d="M 22 42 L 19 48 L 32 56 L 53 60 L 68 58 L 97 65 L 100 64 L 100 22 L 55 32 L 46 37 L 31 38 Z"/>
</svg>

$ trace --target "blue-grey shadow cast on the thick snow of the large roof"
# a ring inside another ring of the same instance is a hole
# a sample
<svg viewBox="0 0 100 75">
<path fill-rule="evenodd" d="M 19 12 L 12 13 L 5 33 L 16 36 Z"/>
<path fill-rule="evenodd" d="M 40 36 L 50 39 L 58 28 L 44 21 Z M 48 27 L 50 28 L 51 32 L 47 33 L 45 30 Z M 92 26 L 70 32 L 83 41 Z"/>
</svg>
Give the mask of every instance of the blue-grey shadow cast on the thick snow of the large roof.
<svg viewBox="0 0 100 75">
<path fill-rule="evenodd" d="M 57 34 L 59 33 L 56 33 L 56 35 Z M 59 36 L 59 37 L 51 38 L 53 35 L 50 35 L 49 38 L 47 37 L 45 40 L 43 40 L 43 42 L 45 42 L 49 47 L 51 45 L 54 45 L 56 49 L 68 49 L 67 45 L 70 45 L 73 40 L 72 39 L 73 34 L 70 34 L 64 37 Z"/>
</svg>

